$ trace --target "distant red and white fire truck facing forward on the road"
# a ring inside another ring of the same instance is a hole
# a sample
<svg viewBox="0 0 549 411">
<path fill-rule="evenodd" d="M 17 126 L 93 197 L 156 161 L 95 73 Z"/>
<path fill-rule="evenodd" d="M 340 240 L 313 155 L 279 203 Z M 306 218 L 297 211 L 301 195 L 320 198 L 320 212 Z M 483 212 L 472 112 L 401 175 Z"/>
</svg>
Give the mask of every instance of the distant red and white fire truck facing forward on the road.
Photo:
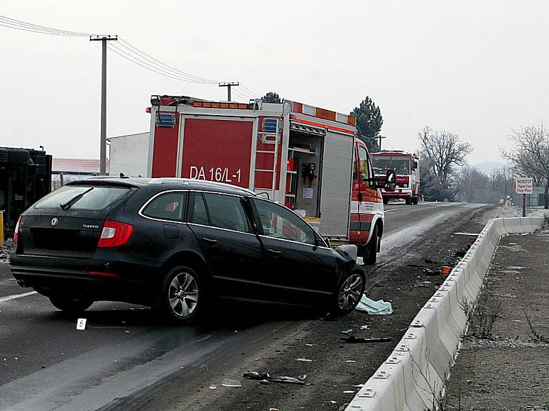
<svg viewBox="0 0 549 411">
<path fill-rule="evenodd" d="M 417 204 L 419 199 L 419 156 L 406 151 L 379 151 L 372 154 L 375 177 L 384 179 L 387 170 L 397 175 L 395 188 L 383 188 L 383 202 L 391 199 L 405 199 L 406 204 Z"/>
</svg>

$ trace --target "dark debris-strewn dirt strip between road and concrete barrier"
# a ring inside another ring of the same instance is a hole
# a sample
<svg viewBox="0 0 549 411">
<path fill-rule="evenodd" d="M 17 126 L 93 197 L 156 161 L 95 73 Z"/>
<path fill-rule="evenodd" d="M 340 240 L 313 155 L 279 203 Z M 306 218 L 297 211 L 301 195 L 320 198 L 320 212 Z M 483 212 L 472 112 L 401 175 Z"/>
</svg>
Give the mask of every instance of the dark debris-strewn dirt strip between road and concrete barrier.
<svg viewBox="0 0 549 411">
<path fill-rule="evenodd" d="M 132 403 L 131 409 L 339 410 L 387 358 L 419 308 L 443 282 L 444 276 L 437 271 L 456 264 L 467 250 L 469 236 L 454 233 L 480 232 L 494 214 L 493 208 L 465 211 L 429 236 L 393 252 L 384 263 L 366 269 L 366 295 L 390 301 L 393 314 L 371 316 L 355 311 L 336 320 L 311 316 L 280 328 L 272 325 L 268 337 L 248 338 L 253 343 L 235 345 L 200 367 L 173 376 L 157 393 Z M 391 341 L 343 343 L 342 338 L 349 335 L 390 337 Z M 311 385 L 264 385 L 244 379 L 246 371 L 289 377 L 306 374 L 305 382 Z M 222 386 L 224 377 L 242 386 Z"/>
</svg>

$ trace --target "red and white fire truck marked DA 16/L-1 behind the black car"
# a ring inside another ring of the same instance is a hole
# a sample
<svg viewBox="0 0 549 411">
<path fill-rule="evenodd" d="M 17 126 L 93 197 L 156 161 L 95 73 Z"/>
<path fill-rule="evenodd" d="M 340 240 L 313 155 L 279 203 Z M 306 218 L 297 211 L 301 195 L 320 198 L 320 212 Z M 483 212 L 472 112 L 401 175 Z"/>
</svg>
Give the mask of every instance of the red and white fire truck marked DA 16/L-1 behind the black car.
<svg viewBox="0 0 549 411">
<path fill-rule="evenodd" d="M 382 195 L 355 117 L 296 101 L 248 103 L 152 96 L 149 177 L 234 184 L 305 217 L 332 244 L 375 262 Z M 112 157 L 113 153 L 111 153 Z"/>
</svg>

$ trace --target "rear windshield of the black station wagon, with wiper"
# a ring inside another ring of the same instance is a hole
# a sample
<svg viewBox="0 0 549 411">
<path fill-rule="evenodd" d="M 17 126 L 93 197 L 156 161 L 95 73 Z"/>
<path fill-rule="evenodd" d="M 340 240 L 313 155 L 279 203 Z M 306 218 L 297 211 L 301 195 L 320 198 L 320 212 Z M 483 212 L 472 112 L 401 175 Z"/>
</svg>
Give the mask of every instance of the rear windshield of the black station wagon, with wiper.
<svg viewBox="0 0 549 411">
<path fill-rule="evenodd" d="M 35 208 L 62 208 L 67 210 L 103 210 L 130 191 L 128 187 L 64 186 L 40 199 Z"/>
</svg>

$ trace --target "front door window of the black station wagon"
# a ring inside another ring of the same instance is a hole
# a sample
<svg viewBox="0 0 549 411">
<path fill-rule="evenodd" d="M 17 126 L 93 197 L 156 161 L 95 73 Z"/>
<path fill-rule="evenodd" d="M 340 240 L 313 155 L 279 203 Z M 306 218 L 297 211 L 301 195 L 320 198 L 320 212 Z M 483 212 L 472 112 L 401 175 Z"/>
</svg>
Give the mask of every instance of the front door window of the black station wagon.
<svg viewBox="0 0 549 411">
<path fill-rule="evenodd" d="M 314 230 L 279 204 L 254 199 L 264 236 L 316 245 Z"/>
</svg>

